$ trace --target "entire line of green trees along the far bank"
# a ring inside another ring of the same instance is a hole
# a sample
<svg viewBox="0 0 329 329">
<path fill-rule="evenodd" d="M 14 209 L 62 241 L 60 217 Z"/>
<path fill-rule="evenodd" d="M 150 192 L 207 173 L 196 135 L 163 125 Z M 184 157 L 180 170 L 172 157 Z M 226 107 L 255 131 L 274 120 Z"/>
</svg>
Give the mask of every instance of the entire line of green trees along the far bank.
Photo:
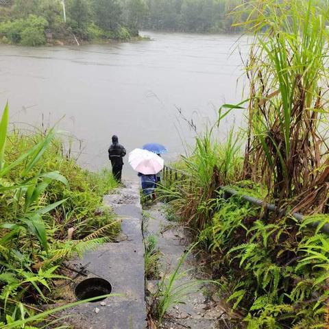
<svg viewBox="0 0 329 329">
<path fill-rule="evenodd" d="M 0 7 L 0 40 L 43 45 L 60 40 L 129 40 L 138 29 L 231 31 L 241 0 L 10 0 Z"/>
</svg>

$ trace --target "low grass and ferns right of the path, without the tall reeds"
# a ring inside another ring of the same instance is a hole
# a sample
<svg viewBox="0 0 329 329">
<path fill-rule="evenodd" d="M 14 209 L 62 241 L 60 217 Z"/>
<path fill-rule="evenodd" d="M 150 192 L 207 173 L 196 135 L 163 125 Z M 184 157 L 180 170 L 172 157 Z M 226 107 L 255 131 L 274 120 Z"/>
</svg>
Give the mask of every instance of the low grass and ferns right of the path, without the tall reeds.
<svg viewBox="0 0 329 329">
<path fill-rule="evenodd" d="M 231 157 L 219 149 L 232 147 L 209 136 L 198 138 L 195 151 L 186 158 L 186 177 L 164 182 L 161 193 L 182 223 L 192 228 L 199 246 L 212 254 L 210 265 L 221 296 L 232 310 L 239 308 L 248 329 L 325 328 L 329 238 L 319 228 L 329 222 L 329 215 L 312 215 L 297 223 L 293 217 L 248 204 L 239 195 L 271 201 L 271 186 L 241 180 L 239 151 Z M 238 194 L 224 199 L 220 186 Z M 314 222 L 319 222 L 317 230 L 306 226 Z"/>
</svg>

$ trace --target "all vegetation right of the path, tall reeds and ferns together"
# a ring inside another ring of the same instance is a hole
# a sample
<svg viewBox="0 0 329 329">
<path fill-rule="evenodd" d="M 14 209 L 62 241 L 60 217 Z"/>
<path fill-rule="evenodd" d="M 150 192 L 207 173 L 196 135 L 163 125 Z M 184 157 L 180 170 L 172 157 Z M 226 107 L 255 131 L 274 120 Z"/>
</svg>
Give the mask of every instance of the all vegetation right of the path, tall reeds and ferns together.
<svg viewBox="0 0 329 329">
<path fill-rule="evenodd" d="M 328 328 L 328 8 L 324 1 L 245 1 L 254 33 L 246 62 L 247 127 L 218 143 L 197 136 L 163 188 L 173 210 L 211 257 L 219 295 L 239 310 L 236 326 Z M 245 149 L 245 151 L 243 151 Z M 225 199 L 219 186 L 275 203 L 288 215 Z M 291 216 L 300 211 L 300 223 Z M 319 222 L 317 228 L 308 224 Z"/>
</svg>

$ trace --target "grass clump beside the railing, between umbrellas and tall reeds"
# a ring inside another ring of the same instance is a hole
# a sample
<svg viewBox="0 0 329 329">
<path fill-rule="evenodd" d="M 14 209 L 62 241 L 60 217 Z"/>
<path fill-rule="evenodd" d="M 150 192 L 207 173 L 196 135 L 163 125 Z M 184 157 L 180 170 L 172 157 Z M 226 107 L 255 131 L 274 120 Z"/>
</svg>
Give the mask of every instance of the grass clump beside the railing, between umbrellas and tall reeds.
<svg viewBox="0 0 329 329">
<path fill-rule="evenodd" d="M 194 230 L 206 226 L 217 203 L 219 186 L 226 186 L 242 177 L 240 134 L 230 130 L 226 143 L 218 143 L 208 130 L 197 136 L 191 156 L 182 156 L 184 175 L 178 180 L 165 180 L 158 188 L 160 198 L 173 205 L 178 215 Z"/>
</svg>

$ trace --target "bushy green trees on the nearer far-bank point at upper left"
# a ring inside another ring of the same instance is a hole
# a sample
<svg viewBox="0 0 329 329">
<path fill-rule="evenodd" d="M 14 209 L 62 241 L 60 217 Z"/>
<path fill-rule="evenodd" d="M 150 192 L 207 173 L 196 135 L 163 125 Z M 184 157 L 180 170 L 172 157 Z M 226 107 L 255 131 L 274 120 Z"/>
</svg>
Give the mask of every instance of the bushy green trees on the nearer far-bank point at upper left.
<svg viewBox="0 0 329 329">
<path fill-rule="evenodd" d="M 129 40 L 138 36 L 117 0 L 13 0 L 0 7 L 2 42 L 21 45 L 75 43 L 77 40 Z"/>
</svg>

